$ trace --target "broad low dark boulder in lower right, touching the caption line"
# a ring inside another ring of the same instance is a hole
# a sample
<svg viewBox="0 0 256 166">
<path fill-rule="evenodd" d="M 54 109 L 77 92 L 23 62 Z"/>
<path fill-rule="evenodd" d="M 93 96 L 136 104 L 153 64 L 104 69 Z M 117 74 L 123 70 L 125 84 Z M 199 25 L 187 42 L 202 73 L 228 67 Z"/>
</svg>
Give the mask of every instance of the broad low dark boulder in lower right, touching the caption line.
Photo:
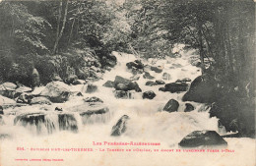
<svg viewBox="0 0 256 166">
<path fill-rule="evenodd" d="M 213 146 L 227 145 L 227 142 L 215 131 L 194 131 L 179 143 L 181 147 L 198 147 L 198 146 Z"/>
</svg>

